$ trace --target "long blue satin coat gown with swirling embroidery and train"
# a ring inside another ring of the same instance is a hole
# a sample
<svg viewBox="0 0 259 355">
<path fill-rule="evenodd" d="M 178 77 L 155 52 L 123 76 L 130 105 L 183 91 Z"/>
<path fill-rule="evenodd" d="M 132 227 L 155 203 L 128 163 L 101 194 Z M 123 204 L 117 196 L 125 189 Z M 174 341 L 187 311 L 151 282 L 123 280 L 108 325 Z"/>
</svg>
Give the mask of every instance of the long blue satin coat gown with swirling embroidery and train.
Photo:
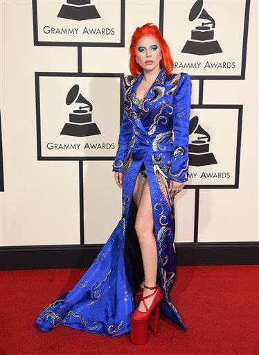
<svg viewBox="0 0 259 355">
<path fill-rule="evenodd" d="M 143 71 L 123 78 L 124 110 L 118 150 L 112 171 L 123 173 L 122 215 L 90 268 L 68 292 L 37 315 L 42 331 L 58 325 L 103 336 L 130 331 L 134 294 L 143 279 L 139 241 L 134 230 L 136 205 L 132 199 L 137 175 L 148 178 L 157 243 L 157 282 L 163 291 L 161 313 L 187 331 L 172 304 L 170 291 L 176 276 L 175 203 L 169 180 L 188 180 L 188 136 L 192 84 L 188 73 L 167 74 L 160 67 L 157 79 L 137 107 L 134 92 Z"/>
</svg>

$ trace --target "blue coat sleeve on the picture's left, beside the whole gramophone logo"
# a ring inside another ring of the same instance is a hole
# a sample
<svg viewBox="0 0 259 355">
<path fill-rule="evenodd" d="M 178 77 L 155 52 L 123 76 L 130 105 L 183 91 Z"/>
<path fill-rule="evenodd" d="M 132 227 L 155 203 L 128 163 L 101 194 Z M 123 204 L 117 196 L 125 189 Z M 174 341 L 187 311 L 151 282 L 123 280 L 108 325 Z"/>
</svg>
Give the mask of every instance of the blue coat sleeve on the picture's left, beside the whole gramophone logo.
<svg viewBox="0 0 259 355">
<path fill-rule="evenodd" d="M 125 98 L 125 78 L 123 79 L 122 91 L 123 98 Z M 123 101 L 124 103 L 124 101 Z M 123 172 L 123 162 L 127 155 L 128 150 L 130 149 L 130 140 L 133 135 L 133 125 L 128 118 L 123 104 L 123 121 L 120 125 L 120 134 L 118 137 L 118 150 L 116 152 L 116 157 L 112 164 L 112 171 L 117 171 L 118 173 Z"/>
</svg>

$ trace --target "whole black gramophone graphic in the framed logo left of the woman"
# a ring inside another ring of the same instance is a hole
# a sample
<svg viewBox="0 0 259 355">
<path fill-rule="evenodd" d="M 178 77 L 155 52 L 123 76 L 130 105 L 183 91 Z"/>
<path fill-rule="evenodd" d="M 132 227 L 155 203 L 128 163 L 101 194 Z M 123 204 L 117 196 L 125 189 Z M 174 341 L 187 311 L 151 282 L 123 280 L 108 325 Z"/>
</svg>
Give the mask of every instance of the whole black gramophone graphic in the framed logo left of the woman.
<svg viewBox="0 0 259 355">
<path fill-rule="evenodd" d="M 60 135 L 74 137 L 101 135 L 96 123 L 91 122 L 93 105 L 80 94 L 77 84 L 73 85 L 66 95 L 66 105 L 71 103 L 83 103 L 85 106 L 79 106 L 79 110 L 73 110 L 73 113 L 69 114 L 69 123 L 65 123 Z"/>
</svg>

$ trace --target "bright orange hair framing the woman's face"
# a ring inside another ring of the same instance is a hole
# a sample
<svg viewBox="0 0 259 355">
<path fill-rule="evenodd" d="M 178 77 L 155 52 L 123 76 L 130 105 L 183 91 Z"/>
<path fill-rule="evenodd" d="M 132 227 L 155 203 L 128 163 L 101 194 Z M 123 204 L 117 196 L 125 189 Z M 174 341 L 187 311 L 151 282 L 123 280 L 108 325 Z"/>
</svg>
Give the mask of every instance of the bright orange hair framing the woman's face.
<svg viewBox="0 0 259 355">
<path fill-rule="evenodd" d="M 159 42 L 159 46 L 163 55 L 163 58 L 160 61 L 160 66 L 166 69 L 166 73 L 172 73 L 172 69 L 174 69 L 174 62 L 172 60 L 168 44 L 163 39 L 159 28 L 155 24 L 152 24 L 152 22 L 149 22 L 148 24 L 145 24 L 141 27 L 137 27 L 132 35 L 132 40 L 130 43 L 130 72 L 132 73 L 132 76 L 136 78 L 143 71 L 143 68 L 136 62 L 135 53 L 136 44 L 143 36 L 152 36 L 156 38 L 156 40 Z"/>
</svg>

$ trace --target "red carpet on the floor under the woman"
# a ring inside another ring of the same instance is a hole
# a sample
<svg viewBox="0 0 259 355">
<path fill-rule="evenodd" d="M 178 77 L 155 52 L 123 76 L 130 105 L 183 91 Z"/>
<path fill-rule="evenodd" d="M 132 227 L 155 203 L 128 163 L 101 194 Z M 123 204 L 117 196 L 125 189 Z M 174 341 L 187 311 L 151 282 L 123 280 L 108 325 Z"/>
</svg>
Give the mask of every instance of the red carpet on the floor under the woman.
<svg viewBox="0 0 259 355">
<path fill-rule="evenodd" d="M 35 317 L 86 269 L 1 272 L 1 355 L 253 355 L 258 346 L 258 266 L 178 266 L 172 304 L 187 333 L 161 318 L 159 338 L 134 345 L 130 332 L 107 338 L 59 326 L 42 333 Z"/>
</svg>

